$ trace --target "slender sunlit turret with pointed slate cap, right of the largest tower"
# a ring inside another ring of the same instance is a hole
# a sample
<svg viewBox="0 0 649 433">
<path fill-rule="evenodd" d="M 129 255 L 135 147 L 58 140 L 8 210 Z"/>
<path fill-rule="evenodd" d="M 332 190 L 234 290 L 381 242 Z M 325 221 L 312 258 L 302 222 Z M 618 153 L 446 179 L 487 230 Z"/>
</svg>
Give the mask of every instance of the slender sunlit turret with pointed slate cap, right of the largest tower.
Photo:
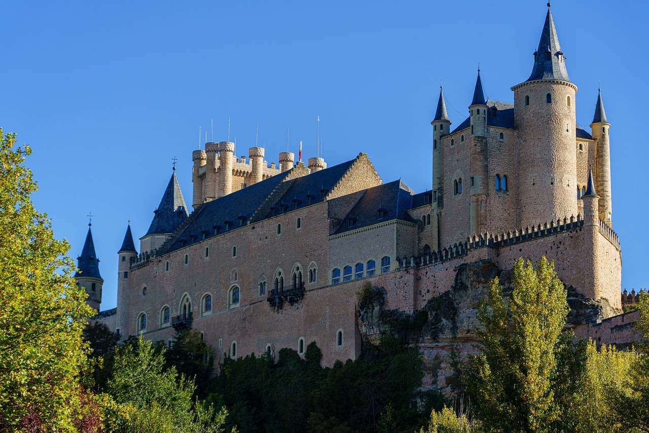
<svg viewBox="0 0 649 433">
<path fill-rule="evenodd" d="M 609 128 L 611 124 L 606 119 L 602 92 L 597 95 L 595 115 L 591 123 L 593 139 L 597 140 L 597 151 L 595 153 L 596 185 L 600 192 L 599 217 L 613 227 L 611 221 L 611 149 L 609 147 Z"/>
</svg>

